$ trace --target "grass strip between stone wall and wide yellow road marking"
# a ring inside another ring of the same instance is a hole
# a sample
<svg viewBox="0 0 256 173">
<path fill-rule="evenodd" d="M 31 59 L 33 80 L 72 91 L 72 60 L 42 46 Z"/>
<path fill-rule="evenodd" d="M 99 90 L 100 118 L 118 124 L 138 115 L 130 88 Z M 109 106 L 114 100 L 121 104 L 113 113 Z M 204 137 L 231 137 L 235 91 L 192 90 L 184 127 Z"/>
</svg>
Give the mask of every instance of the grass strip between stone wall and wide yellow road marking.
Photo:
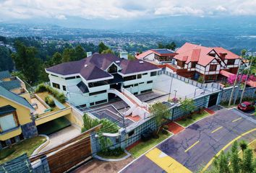
<svg viewBox="0 0 256 173">
<path fill-rule="evenodd" d="M 140 155 L 142 155 L 143 153 L 145 153 L 146 151 L 148 151 L 150 148 L 155 146 L 156 144 L 158 144 L 161 141 L 168 138 L 168 136 L 171 136 L 171 133 L 168 133 L 166 135 L 162 134 L 162 133 L 159 133 L 159 138 L 151 138 L 149 141 L 140 142 L 140 143 L 137 144 L 137 146 L 131 148 L 129 150 L 129 153 L 132 154 L 132 156 L 134 156 L 135 158 L 137 158 Z"/>
</svg>

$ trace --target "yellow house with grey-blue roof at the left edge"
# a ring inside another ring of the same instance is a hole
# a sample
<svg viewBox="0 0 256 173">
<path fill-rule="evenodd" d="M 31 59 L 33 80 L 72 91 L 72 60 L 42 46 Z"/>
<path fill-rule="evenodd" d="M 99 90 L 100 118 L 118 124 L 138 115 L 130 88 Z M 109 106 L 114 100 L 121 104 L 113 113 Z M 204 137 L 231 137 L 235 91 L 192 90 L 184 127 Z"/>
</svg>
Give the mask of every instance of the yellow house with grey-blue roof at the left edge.
<svg viewBox="0 0 256 173">
<path fill-rule="evenodd" d="M 22 85 L 9 71 L 0 71 L 0 148 L 38 135 L 34 108 L 25 99 L 28 92 Z"/>
</svg>

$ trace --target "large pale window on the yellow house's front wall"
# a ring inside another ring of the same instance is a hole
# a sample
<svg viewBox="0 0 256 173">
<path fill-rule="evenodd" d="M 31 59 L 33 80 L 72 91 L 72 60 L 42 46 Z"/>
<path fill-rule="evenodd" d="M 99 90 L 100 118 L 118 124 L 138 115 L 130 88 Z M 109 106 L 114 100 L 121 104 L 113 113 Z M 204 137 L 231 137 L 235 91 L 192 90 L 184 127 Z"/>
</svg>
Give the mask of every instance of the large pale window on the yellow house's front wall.
<svg viewBox="0 0 256 173">
<path fill-rule="evenodd" d="M 16 128 L 18 125 L 15 121 L 14 114 L 2 115 L 0 117 L 0 129 L 1 131 L 10 130 Z"/>
</svg>

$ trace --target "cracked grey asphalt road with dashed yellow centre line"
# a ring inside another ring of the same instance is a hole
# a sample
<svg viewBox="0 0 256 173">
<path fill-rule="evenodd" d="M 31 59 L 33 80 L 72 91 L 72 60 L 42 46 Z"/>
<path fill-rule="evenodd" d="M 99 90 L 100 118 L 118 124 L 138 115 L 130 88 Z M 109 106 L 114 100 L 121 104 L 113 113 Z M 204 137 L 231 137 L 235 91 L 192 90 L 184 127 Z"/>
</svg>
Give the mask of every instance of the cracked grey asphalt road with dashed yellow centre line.
<svg viewBox="0 0 256 173">
<path fill-rule="evenodd" d="M 196 172 L 200 167 L 205 166 L 227 143 L 255 127 L 255 121 L 246 118 L 242 112 L 222 109 L 218 110 L 216 115 L 210 115 L 190 125 L 189 128 L 172 136 L 157 148 L 187 169 Z M 252 141 L 255 138 L 256 131 L 240 139 Z M 121 172 L 165 171 L 144 155 Z"/>
</svg>

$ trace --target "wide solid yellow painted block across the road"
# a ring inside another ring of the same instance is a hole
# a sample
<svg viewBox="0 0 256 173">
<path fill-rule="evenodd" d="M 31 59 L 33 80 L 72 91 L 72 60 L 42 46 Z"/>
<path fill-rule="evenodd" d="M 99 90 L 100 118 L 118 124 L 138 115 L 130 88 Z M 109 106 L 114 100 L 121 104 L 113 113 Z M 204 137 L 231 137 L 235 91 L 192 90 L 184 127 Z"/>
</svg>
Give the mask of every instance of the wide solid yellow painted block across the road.
<svg viewBox="0 0 256 173">
<path fill-rule="evenodd" d="M 149 151 L 148 154 L 145 154 L 151 161 L 161 167 L 166 172 L 182 172 L 182 173 L 192 173 L 187 167 L 184 167 L 175 159 L 171 158 L 167 154 L 163 153 L 158 148 L 154 148 Z"/>
</svg>

